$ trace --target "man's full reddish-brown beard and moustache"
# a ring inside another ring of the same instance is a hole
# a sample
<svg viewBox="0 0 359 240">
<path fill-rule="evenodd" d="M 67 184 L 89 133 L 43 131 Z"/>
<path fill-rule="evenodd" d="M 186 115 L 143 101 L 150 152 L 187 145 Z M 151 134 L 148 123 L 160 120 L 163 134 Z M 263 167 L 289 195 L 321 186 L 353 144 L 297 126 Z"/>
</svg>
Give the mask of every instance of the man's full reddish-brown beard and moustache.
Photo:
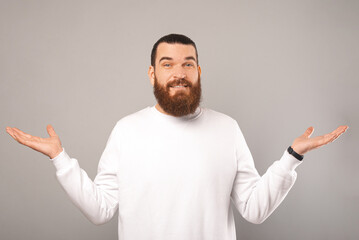
<svg viewBox="0 0 359 240">
<path fill-rule="evenodd" d="M 189 88 L 176 90 L 173 96 L 170 95 L 171 86 L 186 84 Z M 155 75 L 155 84 L 153 86 L 153 93 L 157 99 L 158 104 L 168 114 L 181 117 L 194 113 L 201 102 L 201 77 L 198 74 L 198 81 L 192 84 L 190 81 L 182 78 L 168 82 L 164 86 L 160 85 Z"/>
</svg>

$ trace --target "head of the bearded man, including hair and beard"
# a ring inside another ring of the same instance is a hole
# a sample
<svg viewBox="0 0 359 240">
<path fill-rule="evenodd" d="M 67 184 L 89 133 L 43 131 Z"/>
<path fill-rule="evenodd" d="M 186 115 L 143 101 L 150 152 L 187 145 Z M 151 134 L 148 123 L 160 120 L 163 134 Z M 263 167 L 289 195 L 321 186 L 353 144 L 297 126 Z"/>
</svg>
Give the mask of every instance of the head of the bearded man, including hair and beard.
<svg viewBox="0 0 359 240">
<path fill-rule="evenodd" d="M 195 112 L 201 101 L 200 75 L 197 48 L 191 39 L 170 34 L 154 44 L 148 76 L 157 106 L 164 113 L 184 116 Z"/>
</svg>

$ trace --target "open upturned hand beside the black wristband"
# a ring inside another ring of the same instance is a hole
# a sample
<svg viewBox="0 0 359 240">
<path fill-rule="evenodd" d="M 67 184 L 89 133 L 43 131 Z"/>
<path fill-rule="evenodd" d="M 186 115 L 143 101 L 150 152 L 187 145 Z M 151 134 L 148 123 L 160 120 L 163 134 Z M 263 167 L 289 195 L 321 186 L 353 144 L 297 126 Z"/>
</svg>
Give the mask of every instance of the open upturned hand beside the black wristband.
<svg viewBox="0 0 359 240">
<path fill-rule="evenodd" d="M 334 142 L 334 140 L 343 134 L 348 128 L 348 126 L 339 126 L 331 133 L 315 138 L 309 138 L 314 132 L 314 128 L 309 127 L 302 136 L 293 141 L 292 148 L 296 153 L 303 155 L 310 150 L 319 148 L 330 142 Z"/>
</svg>

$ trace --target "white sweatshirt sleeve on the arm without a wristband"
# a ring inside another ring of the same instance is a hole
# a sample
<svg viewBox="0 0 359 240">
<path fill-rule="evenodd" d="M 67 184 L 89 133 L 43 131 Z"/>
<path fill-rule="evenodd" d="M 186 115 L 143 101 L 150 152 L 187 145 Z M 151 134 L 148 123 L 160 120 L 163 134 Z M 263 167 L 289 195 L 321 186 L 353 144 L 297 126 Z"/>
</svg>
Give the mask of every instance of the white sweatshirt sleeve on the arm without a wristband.
<svg viewBox="0 0 359 240">
<path fill-rule="evenodd" d="M 58 156 L 50 159 L 56 167 L 56 177 L 62 188 L 75 206 L 96 225 L 108 222 L 118 208 L 116 160 L 119 154 L 116 126 L 101 155 L 94 181 L 80 168 L 76 159 L 69 157 L 64 148 Z"/>
</svg>

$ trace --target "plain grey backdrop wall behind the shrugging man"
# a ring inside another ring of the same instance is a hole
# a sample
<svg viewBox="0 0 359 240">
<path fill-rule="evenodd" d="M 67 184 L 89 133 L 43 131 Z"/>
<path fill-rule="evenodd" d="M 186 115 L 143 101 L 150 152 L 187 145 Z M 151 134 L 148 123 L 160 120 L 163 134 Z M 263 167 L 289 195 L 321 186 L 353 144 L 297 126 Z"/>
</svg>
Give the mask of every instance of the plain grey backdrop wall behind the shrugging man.
<svg viewBox="0 0 359 240">
<path fill-rule="evenodd" d="M 93 179 L 116 121 L 155 104 L 150 51 L 168 33 L 196 42 L 202 106 L 238 121 L 261 174 L 307 127 L 350 127 L 306 154 L 263 224 L 236 211 L 237 238 L 358 239 L 358 23 L 358 1 L 2 0 L 0 239 L 117 239 L 117 215 L 92 225 L 5 127 L 52 124 Z"/>
</svg>

